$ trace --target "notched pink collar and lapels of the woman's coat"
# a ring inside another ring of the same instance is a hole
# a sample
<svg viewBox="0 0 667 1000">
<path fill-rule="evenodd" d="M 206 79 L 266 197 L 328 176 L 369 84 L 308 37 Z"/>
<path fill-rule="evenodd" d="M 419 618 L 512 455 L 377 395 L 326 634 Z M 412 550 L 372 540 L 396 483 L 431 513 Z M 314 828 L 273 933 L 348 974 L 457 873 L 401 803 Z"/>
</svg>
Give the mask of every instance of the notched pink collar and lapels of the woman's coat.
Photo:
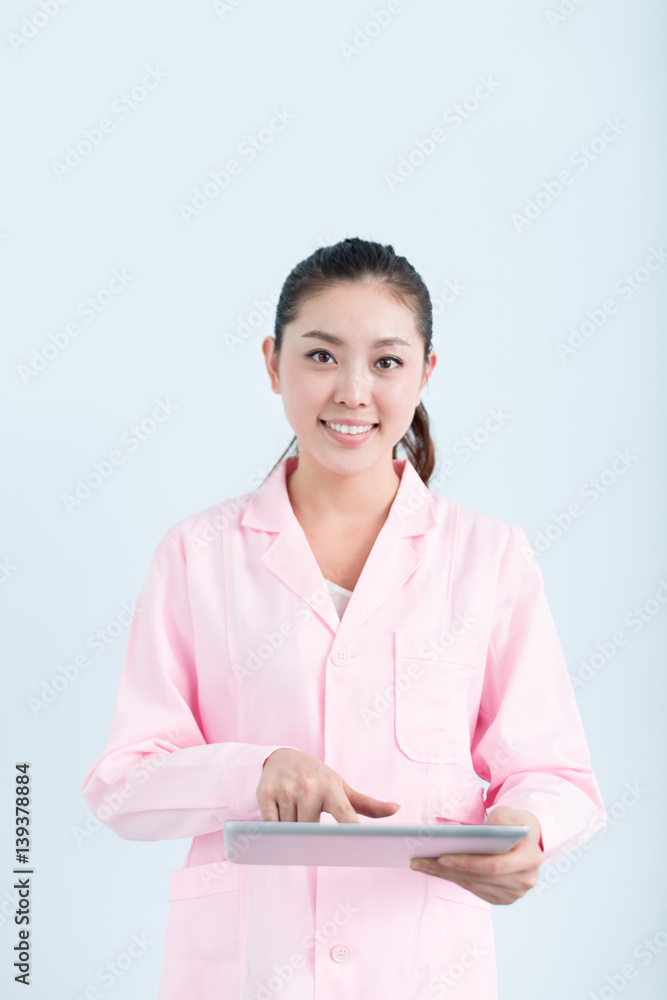
<svg viewBox="0 0 667 1000">
<path fill-rule="evenodd" d="M 286 480 L 298 463 L 290 456 L 253 494 L 244 527 L 276 532 L 262 562 L 329 626 L 339 641 L 399 590 L 422 561 L 408 541 L 435 526 L 433 495 L 407 459 L 394 459 L 399 488 L 357 585 L 339 621 L 324 577 L 289 502 Z"/>
</svg>

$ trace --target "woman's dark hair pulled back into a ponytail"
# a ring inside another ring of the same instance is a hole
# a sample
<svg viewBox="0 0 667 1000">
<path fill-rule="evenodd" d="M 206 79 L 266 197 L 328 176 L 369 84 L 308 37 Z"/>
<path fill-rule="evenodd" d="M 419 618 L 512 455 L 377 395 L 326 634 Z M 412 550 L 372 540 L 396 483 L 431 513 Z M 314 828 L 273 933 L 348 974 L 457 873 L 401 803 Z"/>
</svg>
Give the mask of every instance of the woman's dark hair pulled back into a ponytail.
<svg viewBox="0 0 667 1000">
<path fill-rule="evenodd" d="M 280 351 L 284 327 L 296 319 L 304 299 L 343 281 L 384 285 L 399 302 L 412 309 L 417 330 L 424 341 L 426 362 L 433 348 L 433 311 L 426 285 L 412 264 L 405 257 L 397 256 L 392 246 L 383 246 L 356 236 L 347 237 L 332 246 L 319 247 L 288 274 L 276 307 L 276 353 Z M 274 469 L 296 440 L 295 435 Z M 435 465 L 435 448 L 429 432 L 428 414 L 422 403 L 416 407 L 412 423 L 398 444 L 403 446 L 411 464 L 428 486 Z M 397 449 L 398 445 L 395 445 L 392 458 L 398 457 Z"/>
</svg>

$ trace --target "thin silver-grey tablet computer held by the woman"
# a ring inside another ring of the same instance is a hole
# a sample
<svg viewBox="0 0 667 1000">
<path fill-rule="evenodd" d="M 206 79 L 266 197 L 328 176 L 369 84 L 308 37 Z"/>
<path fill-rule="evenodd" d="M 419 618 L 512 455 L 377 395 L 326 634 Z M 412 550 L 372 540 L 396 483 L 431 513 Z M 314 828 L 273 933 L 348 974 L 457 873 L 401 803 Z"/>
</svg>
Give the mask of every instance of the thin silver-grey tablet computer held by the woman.
<svg viewBox="0 0 667 1000">
<path fill-rule="evenodd" d="M 225 853 L 240 865 L 345 865 L 405 868 L 441 854 L 504 854 L 528 826 L 436 823 L 281 823 L 228 820 Z"/>
</svg>

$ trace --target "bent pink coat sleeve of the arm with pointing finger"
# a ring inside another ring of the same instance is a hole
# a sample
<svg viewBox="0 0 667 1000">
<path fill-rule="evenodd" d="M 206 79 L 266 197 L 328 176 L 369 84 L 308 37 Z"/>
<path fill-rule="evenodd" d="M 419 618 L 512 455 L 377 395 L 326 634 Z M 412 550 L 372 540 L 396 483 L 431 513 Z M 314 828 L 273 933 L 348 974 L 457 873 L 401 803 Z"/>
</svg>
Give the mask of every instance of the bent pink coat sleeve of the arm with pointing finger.
<svg viewBox="0 0 667 1000">
<path fill-rule="evenodd" d="M 81 785 L 89 808 L 119 836 L 194 837 L 228 819 L 261 819 L 255 790 L 280 747 L 207 743 L 196 697 L 185 558 L 170 529 L 137 599 L 106 749 Z"/>
</svg>

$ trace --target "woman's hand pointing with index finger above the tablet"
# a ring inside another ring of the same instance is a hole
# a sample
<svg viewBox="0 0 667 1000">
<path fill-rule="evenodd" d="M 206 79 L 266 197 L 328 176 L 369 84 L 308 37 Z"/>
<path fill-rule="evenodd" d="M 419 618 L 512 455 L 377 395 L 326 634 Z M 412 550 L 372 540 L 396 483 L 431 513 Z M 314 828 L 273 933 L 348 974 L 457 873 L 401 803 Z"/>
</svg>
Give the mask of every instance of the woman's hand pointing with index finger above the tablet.
<svg viewBox="0 0 667 1000">
<path fill-rule="evenodd" d="M 288 748 L 269 754 L 255 794 L 262 820 L 282 823 L 319 823 L 322 812 L 358 823 L 357 813 L 378 818 L 401 808 L 355 791 L 317 757 Z"/>
</svg>

